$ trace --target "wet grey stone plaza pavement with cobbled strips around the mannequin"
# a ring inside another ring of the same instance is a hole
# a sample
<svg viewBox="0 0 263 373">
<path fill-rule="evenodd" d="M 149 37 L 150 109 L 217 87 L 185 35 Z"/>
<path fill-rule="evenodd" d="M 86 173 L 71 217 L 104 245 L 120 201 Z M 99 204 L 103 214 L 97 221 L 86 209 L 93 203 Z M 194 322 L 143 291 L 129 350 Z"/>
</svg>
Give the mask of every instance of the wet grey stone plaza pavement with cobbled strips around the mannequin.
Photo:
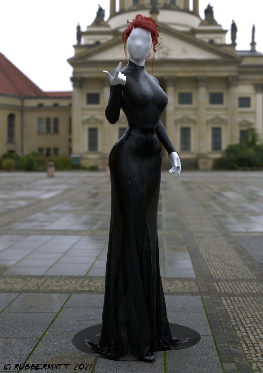
<svg viewBox="0 0 263 373">
<path fill-rule="evenodd" d="M 71 364 L 60 372 L 263 372 L 263 172 L 162 173 L 167 315 L 201 341 L 156 352 L 152 364 L 95 358 L 71 343 L 102 322 L 109 219 L 105 172 L 0 172 L 0 372 L 22 363 Z"/>
</svg>

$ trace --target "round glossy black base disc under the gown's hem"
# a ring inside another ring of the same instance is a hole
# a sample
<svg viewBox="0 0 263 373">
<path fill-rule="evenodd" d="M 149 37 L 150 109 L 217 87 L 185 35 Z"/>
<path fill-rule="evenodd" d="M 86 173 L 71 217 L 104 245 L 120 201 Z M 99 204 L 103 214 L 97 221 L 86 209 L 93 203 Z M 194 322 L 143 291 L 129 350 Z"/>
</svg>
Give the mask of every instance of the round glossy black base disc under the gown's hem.
<svg viewBox="0 0 263 373">
<path fill-rule="evenodd" d="M 193 345 L 196 345 L 200 339 L 201 336 L 199 335 L 198 332 L 195 330 L 179 325 L 179 324 L 172 324 L 169 323 L 170 330 L 172 333 L 173 337 L 181 338 L 181 339 L 188 339 L 187 342 L 182 343 L 178 345 L 177 347 L 171 348 L 170 350 L 182 350 L 183 348 L 188 348 L 192 347 Z M 118 358 L 112 356 L 112 355 L 106 355 L 102 354 L 89 345 L 85 344 L 86 339 L 90 339 L 90 341 L 94 343 L 98 343 L 100 339 L 100 329 L 102 328 L 102 324 L 97 324 L 93 325 L 90 327 L 87 327 L 86 329 L 80 330 L 77 332 L 73 338 L 72 338 L 72 343 L 75 347 L 78 348 L 78 350 L 81 350 L 83 352 L 86 352 L 87 354 L 91 354 L 97 357 L 102 357 L 103 359 L 108 359 L 108 360 L 118 360 Z M 164 350 L 160 348 L 160 351 Z M 134 359 L 135 360 L 135 359 Z M 125 361 L 124 358 L 120 361 Z M 127 358 L 126 361 L 131 361 L 131 358 Z"/>
</svg>

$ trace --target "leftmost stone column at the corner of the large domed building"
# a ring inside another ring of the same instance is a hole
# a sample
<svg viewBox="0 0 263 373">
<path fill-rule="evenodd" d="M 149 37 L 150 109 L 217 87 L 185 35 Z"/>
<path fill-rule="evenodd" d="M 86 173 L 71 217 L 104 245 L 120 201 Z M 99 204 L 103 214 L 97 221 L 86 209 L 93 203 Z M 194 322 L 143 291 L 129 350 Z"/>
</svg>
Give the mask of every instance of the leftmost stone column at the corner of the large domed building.
<svg viewBox="0 0 263 373">
<path fill-rule="evenodd" d="M 81 87 L 83 78 L 80 76 L 72 76 L 73 95 L 72 95 L 72 153 L 82 154 L 81 140 Z"/>
</svg>

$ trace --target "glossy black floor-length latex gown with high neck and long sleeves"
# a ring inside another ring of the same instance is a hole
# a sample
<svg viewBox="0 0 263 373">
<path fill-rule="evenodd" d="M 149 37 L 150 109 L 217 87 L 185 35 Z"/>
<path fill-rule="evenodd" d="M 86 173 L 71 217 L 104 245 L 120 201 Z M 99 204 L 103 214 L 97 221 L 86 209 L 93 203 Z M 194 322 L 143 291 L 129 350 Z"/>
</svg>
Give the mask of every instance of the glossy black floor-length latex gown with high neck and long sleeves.
<svg viewBox="0 0 263 373">
<path fill-rule="evenodd" d="M 158 81 L 129 60 L 126 84 L 110 86 L 105 114 L 125 113 L 129 127 L 109 154 L 111 218 L 99 344 L 86 344 L 117 360 L 137 360 L 185 340 L 171 336 L 160 276 L 157 209 L 161 148 L 171 144 L 161 113 L 167 95 Z"/>
</svg>

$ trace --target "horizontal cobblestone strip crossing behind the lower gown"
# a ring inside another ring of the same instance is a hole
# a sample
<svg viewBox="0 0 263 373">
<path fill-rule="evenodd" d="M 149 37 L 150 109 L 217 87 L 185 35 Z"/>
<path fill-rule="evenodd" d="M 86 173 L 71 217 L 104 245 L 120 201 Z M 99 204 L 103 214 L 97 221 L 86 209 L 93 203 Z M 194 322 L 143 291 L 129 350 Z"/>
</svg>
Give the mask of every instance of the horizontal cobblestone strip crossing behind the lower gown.
<svg viewBox="0 0 263 373">
<path fill-rule="evenodd" d="M 164 294 L 199 295 L 195 280 L 169 278 L 162 280 Z M 0 276 L 0 292 L 82 292 L 105 291 L 104 276 Z"/>
</svg>

